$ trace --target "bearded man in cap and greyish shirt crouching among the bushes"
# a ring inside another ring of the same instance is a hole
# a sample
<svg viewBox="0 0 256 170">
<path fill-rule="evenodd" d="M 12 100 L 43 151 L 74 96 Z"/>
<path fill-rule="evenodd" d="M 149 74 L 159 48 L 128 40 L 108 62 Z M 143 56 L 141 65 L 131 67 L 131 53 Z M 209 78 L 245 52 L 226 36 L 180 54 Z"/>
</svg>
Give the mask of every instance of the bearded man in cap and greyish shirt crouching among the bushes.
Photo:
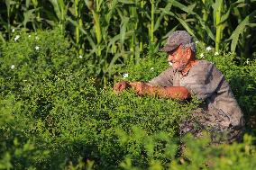
<svg viewBox="0 0 256 170">
<path fill-rule="evenodd" d="M 196 58 L 196 45 L 187 31 L 174 31 L 161 49 L 168 54 L 169 67 L 160 76 L 143 82 L 119 82 L 115 92 L 133 88 L 137 94 L 202 101 L 191 118 L 180 125 L 180 135 L 200 137 L 210 132 L 214 143 L 241 141 L 244 129 L 242 111 L 222 73 L 210 62 Z"/>
</svg>

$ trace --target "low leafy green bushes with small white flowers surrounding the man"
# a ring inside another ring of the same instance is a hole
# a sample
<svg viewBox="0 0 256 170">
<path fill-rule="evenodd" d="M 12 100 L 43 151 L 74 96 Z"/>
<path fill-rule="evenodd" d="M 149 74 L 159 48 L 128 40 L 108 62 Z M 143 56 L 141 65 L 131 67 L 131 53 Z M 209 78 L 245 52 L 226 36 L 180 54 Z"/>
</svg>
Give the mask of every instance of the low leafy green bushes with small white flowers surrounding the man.
<svg viewBox="0 0 256 170">
<path fill-rule="evenodd" d="M 242 143 L 221 146 L 187 136 L 179 156 L 178 123 L 197 101 L 114 94 L 112 85 L 98 86 L 95 68 L 75 50 L 59 27 L 15 31 L 1 45 L 0 169 L 254 169 L 255 60 L 238 67 L 235 55 L 197 43 L 197 56 L 232 85 L 247 131 Z M 151 47 L 138 61 L 118 66 L 114 81 L 148 81 L 168 67 Z"/>
</svg>

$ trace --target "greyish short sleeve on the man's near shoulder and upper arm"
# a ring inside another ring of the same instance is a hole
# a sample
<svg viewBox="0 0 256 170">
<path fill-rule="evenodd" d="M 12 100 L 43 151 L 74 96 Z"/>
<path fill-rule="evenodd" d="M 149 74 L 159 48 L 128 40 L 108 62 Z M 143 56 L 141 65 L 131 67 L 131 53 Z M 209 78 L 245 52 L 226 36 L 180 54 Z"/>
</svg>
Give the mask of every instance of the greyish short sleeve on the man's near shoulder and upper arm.
<svg viewBox="0 0 256 170">
<path fill-rule="evenodd" d="M 212 63 L 203 63 L 189 71 L 183 85 L 190 94 L 195 94 L 200 101 L 205 101 L 223 82 L 224 76 Z"/>
</svg>

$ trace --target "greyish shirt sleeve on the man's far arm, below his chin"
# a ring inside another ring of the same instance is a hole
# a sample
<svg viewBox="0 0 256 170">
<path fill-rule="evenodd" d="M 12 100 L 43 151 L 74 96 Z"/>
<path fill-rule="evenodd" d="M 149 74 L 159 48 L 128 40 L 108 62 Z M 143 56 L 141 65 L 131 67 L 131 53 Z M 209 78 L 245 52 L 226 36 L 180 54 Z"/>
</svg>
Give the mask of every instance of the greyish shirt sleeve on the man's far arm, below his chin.
<svg viewBox="0 0 256 170">
<path fill-rule="evenodd" d="M 163 71 L 159 76 L 154 77 L 148 82 L 149 85 L 153 86 L 172 86 L 173 85 L 174 71 L 172 68 L 168 68 Z"/>
</svg>

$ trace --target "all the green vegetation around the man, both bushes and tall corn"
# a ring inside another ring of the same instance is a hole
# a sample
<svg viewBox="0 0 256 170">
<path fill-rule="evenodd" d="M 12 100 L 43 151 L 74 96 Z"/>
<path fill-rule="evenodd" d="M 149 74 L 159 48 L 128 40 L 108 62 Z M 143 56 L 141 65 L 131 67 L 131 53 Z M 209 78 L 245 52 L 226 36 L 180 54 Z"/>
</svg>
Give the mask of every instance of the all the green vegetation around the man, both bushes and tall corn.
<svg viewBox="0 0 256 170">
<path fill-rule="evenodd" d="M 0 1 L 0 169 L 255 169 L 255 4 Z M 242 143 L 180 138 L 197 99 L 113 93 L 116 81 L 169 67 L 158 49 L 176 30 L 195 36 L 197 58 L 230 83 Z"/>
</svg>

